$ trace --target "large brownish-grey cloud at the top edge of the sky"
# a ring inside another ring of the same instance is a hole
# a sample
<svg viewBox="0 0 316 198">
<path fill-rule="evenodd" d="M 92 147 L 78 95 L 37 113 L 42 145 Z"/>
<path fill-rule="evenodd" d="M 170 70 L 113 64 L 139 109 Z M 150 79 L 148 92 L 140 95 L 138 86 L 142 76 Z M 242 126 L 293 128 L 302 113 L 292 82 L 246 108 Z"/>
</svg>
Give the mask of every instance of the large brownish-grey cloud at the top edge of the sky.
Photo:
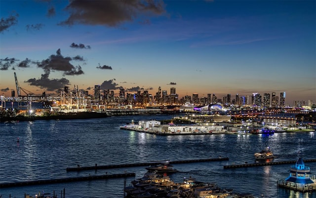
<svg viewBox="0 0 316 198">
<path fill-rule="evenodd" d="M 158 0 L 72 0 L 66 10 L 67 20 L 59 25 L 105 25 L 116 27 L 141 15 L 160 15 L 164 4 Z"/>
</svg>

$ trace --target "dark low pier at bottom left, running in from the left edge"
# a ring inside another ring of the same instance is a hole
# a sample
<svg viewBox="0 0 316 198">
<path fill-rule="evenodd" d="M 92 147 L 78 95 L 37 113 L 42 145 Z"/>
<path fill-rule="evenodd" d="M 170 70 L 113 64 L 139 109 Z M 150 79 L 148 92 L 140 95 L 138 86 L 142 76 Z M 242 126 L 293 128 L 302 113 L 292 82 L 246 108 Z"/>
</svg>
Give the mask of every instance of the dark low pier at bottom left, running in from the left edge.
<svg viewBox="0 0 316 198">
<path fill-rule="evenodd" d="M 1 183 L 0 188 L 42 185 L 42 184 L 55 184 L 55 183 L 64 183 L 64 182 L 89 181 L 89 180 L 120 178 L 120 177 L 135 177 L 135 173 L 91 175 L 91 176 L 85 176 L 85 177 L 67 177 L 67 178 L 60 178 L 60 179 L 45 179 L 45 180 L 35 180 L 35 181 L 25 181 L 25 182 L 8 182 L 8 183 Z"/>
</svg>

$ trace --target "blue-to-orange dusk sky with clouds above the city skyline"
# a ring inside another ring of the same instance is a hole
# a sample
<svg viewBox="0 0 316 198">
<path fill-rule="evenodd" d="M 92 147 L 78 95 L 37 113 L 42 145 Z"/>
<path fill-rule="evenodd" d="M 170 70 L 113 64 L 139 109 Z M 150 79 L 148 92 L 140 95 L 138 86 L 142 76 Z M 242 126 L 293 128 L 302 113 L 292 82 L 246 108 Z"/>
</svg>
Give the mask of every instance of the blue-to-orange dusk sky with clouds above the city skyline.
<svg viewBox="0 0 316 198">
<path fill-rule="evenodd" d="M 0 0 L 0 17 L 1 95 L 15 72 L 36 94 L 160 86 L 316 102 L 315 0 Z"/>
</svg>

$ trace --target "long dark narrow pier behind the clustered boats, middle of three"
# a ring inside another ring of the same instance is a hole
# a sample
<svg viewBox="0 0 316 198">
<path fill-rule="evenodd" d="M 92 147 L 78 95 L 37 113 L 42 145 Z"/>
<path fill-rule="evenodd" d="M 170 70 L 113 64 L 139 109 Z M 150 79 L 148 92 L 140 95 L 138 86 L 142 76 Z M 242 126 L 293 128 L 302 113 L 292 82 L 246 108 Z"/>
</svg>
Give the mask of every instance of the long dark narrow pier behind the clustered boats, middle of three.
<svg viewBox="0 0 316 198">
<path fill-rule="evenodd" d="M 80 170 L 97 170 L 97 169 L 109 169 L 109 168 L 121 168 L 121 167 L 135 167 L 135 166 L 149 166 L 149 165 L 158 165 L 162 162 L 168 161 L 169 164 L 175 163 L 193 163 L 193 162 L 204 162 L 204 161 L 224 161 L 229 160 L 229 158 L 206 158 L 206 159 L 188 159 L 188 160 L 177 160 L 177 161 L 155 161 L 155 162 L 143 162 L 143 163 L 128 163 L 128 164 L 113 164 L 113 165 L 97 165 L 95 166 L 78 166 L 78 167 L 69 167 L 67 171 L 80 171 Z"/>
</svg>

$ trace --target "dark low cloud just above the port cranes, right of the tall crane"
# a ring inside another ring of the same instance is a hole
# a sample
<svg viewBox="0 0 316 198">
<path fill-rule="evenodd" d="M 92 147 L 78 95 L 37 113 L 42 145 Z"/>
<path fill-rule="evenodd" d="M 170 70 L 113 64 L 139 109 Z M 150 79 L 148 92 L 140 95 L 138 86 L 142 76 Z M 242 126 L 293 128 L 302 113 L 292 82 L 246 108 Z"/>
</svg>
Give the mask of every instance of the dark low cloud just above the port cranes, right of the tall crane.
<svg viewBox="0 0 316 198">
<path fill-rule="evenodd" d="M 24 82 L 29 83 L 33 86 L 38 86 L 42 89 L 46 89 L 47 91 L 56 91 L 58 89 L 64 88 L 65 85 L 69 85 L 69 80 L 62 79 L 49 79 L 48 74 L 42 74 L 40 79 L 28 79 Z"/>
</svg>

